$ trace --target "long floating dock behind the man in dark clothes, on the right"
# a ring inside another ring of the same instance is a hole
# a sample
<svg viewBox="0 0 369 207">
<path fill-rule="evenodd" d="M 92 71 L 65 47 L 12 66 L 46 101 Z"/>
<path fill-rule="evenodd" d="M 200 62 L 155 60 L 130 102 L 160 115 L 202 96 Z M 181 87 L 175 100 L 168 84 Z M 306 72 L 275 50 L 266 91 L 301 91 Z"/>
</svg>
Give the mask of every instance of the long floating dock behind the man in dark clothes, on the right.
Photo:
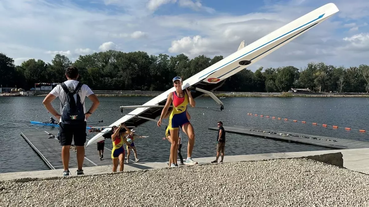
<svg viewBox="0 0 369 207">
<path fill-rule="evenodd" d="M 369 148 L 369 142 L 366 141 L 356 141 L 347 140 L 341 138 L 332 137 L 322 137 L 314 136 L 309 134 L 292 133 L 285 131 L 275 131 L 268 129 L 244 127 L 244 126 L 223 126 L 225 131 L 228 133 L 244 134 L 249 136 L 270 138 L 275 140 L 283 140 L 295 143 L 304 143 L 310 145 L 317 145 L 322 147 L 329 147 L 335 149 L 359 149 L 359 148 Z M 211 130 L 218 130 L 217 127 L 208 127 Z"/>
</svg>

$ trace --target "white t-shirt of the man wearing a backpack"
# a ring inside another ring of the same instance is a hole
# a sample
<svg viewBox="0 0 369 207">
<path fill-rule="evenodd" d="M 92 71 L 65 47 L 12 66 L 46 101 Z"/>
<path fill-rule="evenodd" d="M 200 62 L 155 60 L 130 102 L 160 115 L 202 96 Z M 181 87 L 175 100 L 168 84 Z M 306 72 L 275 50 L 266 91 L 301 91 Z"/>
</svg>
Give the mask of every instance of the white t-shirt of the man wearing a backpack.
<svg viewBox="0 0 369 207">
<path fill-rule="evenodd" d="M 66 87 L 68 87 L 69 91 L 74 90 L 77 85 L 78 85 L 79 81 L 75 81 L 75 80 L 68 80 L 65 81 L 64 84 L 66 85 Z M 59 97 L 59 100 L 64 104 L 65 102 L 65 97 L 66 97 L 66 93 L 64 92 L 62 86 L 56 85 L 55 88 L 50 92 L 50 94 Z M 85 108 L 85 97 L 88 97 L 89 95 L 93 94 L 92 90 L 90 89 L 90 87 L 88 87 L 87 85 L 83 84 L 81 89 L 78 91 L 79 97 L 81 98 L 81 102 L 83 103 L 83 110 L 86 113 L 86 108 Z M 74 99 L 77 100 L 77 96 L 74 95 Z M 60 106 L 60 113 L 62 113 L 62 106 Z M 60 117 L 60 122 L 62 121 L 62 118 Z M 86 119 L 85 119 L 86 121 Z"/>
</svg>

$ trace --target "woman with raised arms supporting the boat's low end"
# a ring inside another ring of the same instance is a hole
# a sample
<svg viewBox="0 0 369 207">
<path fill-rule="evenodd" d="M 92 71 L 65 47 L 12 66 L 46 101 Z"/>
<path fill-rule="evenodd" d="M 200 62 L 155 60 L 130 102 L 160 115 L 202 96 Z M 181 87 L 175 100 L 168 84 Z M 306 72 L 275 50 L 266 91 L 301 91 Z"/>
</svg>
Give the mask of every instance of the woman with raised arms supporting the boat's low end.
<svg viewBox="0 0 369 207">
<path fill-rule="evenodd" d="M 119 131 L 122 127 L 124 127 L 126 131 L 120 133 Z M 111 141 L 113 142 L 113 150 L 111 150 L 111 159 L 113 159 L 113 172 L 117 172 L 118 159 L 120 164 L 119 171 L 123 171 L 125 157 L 123 143 L 132 148 L 130 143 L 128 143 L 127 138 L 125 138 L 127 134 L 131 133 L 131 130 L 127 126 L 125 126 L 124 123 L 121 123 L 119 127 L 111 127 L 111 130 L 113 131 L 113 134 L 111 135 Z"/>
</svg>

